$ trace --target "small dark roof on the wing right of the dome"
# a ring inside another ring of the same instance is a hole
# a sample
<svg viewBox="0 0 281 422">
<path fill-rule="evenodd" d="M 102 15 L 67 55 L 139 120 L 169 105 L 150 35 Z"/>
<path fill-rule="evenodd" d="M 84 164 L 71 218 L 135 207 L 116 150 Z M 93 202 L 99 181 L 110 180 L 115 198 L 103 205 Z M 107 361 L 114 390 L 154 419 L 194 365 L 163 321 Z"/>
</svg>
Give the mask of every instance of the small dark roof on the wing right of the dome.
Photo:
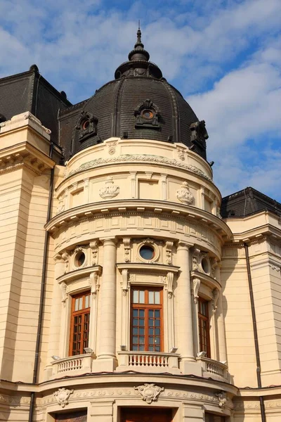
<svg viewBox="0 0 281 422">
<path fill-rule="evenodd" d="M 251 187 L 226 196 L 221 203 L 223 218 L 244 217 L 266 210 L 281 216 L 281 203 Z"/>
</svg>

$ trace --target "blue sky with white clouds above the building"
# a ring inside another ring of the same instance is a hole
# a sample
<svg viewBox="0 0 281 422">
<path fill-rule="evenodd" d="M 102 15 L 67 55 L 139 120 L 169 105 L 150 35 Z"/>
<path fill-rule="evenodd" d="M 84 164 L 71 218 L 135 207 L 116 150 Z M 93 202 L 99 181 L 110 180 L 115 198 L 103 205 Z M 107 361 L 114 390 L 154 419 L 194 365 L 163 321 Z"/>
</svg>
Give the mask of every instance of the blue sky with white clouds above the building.
<svg viewBox="0 0 281 422">
<path fill-rule="evenodd" d="M 205 120 L 223 196 L 281 202 L 281 0 L 0 0 L 0 77 L 36 63 L 72 103 L 114 78 L 136 41 Z"/>
</svg>

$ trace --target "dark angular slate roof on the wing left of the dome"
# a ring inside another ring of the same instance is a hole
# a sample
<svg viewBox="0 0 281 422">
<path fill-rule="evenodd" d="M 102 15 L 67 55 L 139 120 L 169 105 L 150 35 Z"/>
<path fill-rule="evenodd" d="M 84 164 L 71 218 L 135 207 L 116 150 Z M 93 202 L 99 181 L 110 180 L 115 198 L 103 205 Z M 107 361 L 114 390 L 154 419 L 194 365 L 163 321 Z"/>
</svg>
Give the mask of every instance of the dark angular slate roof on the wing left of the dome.
<svg viewBox="0 0 281 422">
<path fill-rule="evenodd" d="M 37 65 L 27 72 L 0 79 L 0 114 L 10 120 L 30 111 L 51 129 L 51 139 L 58 143 L 58 110 L 72 104 L 64 92 L 57 91 L 39 74 Z"/>
</svg>

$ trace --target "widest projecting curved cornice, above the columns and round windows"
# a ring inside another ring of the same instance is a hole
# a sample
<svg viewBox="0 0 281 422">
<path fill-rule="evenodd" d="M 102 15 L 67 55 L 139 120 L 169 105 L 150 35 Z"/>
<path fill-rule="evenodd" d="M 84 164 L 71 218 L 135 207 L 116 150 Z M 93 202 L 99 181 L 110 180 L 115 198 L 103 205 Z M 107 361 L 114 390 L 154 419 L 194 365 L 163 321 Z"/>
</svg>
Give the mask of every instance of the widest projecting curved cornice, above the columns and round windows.
<svg viewBox="0 0 281 422">
<path fill-rule="evenodd" d="M 61 212 L 53 217 L 45 226 L 46 230 L 56 233 L 61 227 L 68 226 L 73 222 L 98 217 L 98 215 L 124 215 L 127 212 L 136 212 L 138 215 L 152 213 L 162 217 L 174 219 L 188 219 L 193 224 L 201 224 L 214 231 L 221 238 L 230 239 L 232 233 L 229 227 L 218 217 L 207 211 L 191 205 L 168 203 L 158 200 L 109 200 L 100 203 L 90 203 Z"/>
</svg>

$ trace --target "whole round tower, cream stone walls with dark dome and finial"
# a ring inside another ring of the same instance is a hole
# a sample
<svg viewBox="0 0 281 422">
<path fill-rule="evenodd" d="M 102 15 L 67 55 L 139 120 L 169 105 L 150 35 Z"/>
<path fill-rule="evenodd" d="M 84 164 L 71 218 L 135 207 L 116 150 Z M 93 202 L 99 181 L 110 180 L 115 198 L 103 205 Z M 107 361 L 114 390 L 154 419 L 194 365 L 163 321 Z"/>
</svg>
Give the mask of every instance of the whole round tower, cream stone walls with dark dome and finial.
<svg viewBox="0 0 281 422">
<path fill-rule="evenodd" d="M 44 403 L 87 421 L 225 421 L 237 393 L 219 267 L 231 232 L 204 121 L 137 37 L 63 140 L 46 225 L 55 284 L 43 390 L 57 392 Z"/>
</svg>

